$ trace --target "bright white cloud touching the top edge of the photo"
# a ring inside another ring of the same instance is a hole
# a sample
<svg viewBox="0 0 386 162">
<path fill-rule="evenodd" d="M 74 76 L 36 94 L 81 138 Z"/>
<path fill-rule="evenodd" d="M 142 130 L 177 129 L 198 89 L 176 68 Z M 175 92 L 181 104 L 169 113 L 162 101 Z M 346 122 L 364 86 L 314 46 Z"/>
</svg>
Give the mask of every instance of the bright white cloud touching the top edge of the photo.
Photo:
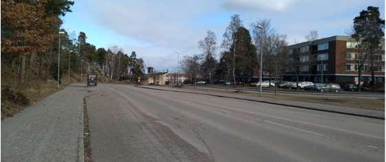
<svg viewBox="0 0 386 162">
<path fill-rule="evenodd" d="M 228 0 L 223 5 L 230 10 L 285 11 L 297 0 Z"/>
</svg>

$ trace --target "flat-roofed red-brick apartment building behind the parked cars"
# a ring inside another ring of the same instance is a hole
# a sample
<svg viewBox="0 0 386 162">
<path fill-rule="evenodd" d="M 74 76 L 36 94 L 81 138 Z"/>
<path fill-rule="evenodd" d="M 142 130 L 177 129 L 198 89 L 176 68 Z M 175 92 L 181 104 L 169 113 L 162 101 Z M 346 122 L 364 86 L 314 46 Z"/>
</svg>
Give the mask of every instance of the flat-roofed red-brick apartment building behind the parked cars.
<svg viewBox="0 0 386 162">
<path fill-rule="evenodd" d="M 287 47 L 295 54 L 295 65 L 283 71 L 284 80 L 311 82 L 358 82 L 358 48 L 350 36 L 331 36 Z M 370 60 L 366 58 L 361 82 L 371 81 Z M 290 60 L 288 60 L 290 61 Z M 385 41 L 374 52 L 375 82 L 385 82 Z"/>
</svg>

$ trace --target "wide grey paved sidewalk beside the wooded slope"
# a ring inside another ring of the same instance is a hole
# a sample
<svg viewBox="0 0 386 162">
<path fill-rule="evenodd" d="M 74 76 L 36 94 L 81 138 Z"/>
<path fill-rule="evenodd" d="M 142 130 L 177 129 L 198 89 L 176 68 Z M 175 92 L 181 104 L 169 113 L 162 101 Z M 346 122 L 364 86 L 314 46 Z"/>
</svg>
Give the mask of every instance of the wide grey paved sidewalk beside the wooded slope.
<svg viewBox="0 0 386 162">
<path fill-rule="evenodd" d="M 71 84 L 1 121 L 1 161 L 84 161 L 84 84 Z"/>
</svg>

